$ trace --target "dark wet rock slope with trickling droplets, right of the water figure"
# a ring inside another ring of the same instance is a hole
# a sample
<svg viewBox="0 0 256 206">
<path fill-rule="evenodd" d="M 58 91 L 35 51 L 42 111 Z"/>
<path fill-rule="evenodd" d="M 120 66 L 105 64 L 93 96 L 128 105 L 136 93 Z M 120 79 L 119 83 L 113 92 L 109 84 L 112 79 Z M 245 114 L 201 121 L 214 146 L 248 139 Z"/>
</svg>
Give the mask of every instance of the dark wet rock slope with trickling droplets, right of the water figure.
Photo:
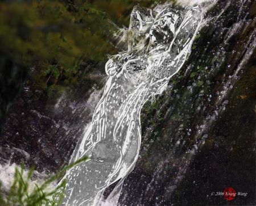
<svg viewBox="0 0 256 206">
<path fill-rule="evenodd" d="M 170 89 L 144 107 L 120 205 L 255 205 L 255 2 L 218 1 Z M 245 175 L 247 174 L 247 175 Z M 140 192 L 138 192 L 140 191 Z M 231 204 L 231 203 L 230 203 Z"/>
</svg>

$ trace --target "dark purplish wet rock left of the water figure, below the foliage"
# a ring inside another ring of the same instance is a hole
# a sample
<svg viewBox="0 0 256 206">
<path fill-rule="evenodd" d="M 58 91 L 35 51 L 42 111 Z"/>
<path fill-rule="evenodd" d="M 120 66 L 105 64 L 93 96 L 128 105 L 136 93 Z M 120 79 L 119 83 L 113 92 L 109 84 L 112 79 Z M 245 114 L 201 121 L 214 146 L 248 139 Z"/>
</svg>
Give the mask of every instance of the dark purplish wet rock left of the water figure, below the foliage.
<svg viewBox="0 0 256 206">
<path fill-rule="evenodd" d="M 25 85 L 7 113 L 0 140 L 1 163 L 24 162 L 46 173 L 67 163 L 100 98 L 101 91 L 93 92 L 92 87 L 104 83 L 104 75 L 97 71 L 88 76 L 90 84 L 77 91 L 51 86 L 47 94 L 32 83 Z"/>
</svg>

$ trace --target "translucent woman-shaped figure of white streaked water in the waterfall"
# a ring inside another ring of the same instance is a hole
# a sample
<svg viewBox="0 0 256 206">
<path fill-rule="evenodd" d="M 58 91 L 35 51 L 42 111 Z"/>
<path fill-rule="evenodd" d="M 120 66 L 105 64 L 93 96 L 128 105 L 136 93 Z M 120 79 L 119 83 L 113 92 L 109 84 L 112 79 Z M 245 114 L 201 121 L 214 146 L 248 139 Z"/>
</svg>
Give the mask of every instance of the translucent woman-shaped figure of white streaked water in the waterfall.
<svg viewBox="0 0 256 206">
<path fill-rule="evenodd" d="M 128 49 L 106 62 L 109 78 L 104 94 L 72 158 L 75 161 L 88 155 L 90 160 L 65 175 L 64 205 L 98 205 L 105 188 L 119 180 L 110 195 L 118 200 L 123 179 L 138 158 L 141 108 L 152 96 L 161 94 L 172 75 L 179 72 L 200 23 L 199 6 L 134 8 L 129 30 L 121 37 Z"/>
</svg>

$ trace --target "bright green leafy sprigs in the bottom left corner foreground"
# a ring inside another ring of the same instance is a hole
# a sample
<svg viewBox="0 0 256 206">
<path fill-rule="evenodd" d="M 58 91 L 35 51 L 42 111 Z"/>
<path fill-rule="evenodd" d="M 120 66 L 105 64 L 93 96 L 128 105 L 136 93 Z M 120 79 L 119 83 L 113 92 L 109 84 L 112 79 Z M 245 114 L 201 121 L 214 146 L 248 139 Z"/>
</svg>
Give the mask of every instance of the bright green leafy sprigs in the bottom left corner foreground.
<svg viewBox="0 0 256 206">
<path fill-rule="evenodd" d="M 24 167 L 22 166 L 19 171 L 15 168 L 14 181 L 8 192 L 7 197 L 3 197 L 3 193 L 0 193 L 0 205 L 6 206 L 57 206 L 61 205 L 65 194 L 66 180 L 63 180 L 56 188 L 50 190 L 49 187 L 51 183 L 59 180 L 64 176 L 68 169 L 73 166 L 78 165 L 81 162 L 87 161 L 88 157 L 82 157 L 78 161 L 72 163 L 71 165 L 63 167 L 58 173 L 51 176 L 51 178 L 45 180 L 40 186 L 35 184 L 35 186 L 30 191 L 30 182 L 34 167 L 28 171 L 26 177 L 24 176 Z"/>
</svg>

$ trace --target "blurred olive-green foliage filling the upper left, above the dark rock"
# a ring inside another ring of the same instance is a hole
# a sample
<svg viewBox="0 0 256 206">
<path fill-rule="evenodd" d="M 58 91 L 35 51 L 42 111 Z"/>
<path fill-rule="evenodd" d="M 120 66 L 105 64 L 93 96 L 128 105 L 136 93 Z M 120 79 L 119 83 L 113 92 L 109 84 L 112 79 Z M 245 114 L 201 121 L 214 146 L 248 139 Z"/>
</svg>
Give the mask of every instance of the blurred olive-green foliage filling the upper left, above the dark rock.
<svg viewBox="0 0 256 206">
<path fill-rule="evenodd" d="M 35 86 L 70 83 L 84 62 L 99 62 L 117 51 L 108 37 L 129 25 L 135 5 L 157 0 L 42 0 L 0 2 L 0 53 L 34 68 Z"/>
</svg>

